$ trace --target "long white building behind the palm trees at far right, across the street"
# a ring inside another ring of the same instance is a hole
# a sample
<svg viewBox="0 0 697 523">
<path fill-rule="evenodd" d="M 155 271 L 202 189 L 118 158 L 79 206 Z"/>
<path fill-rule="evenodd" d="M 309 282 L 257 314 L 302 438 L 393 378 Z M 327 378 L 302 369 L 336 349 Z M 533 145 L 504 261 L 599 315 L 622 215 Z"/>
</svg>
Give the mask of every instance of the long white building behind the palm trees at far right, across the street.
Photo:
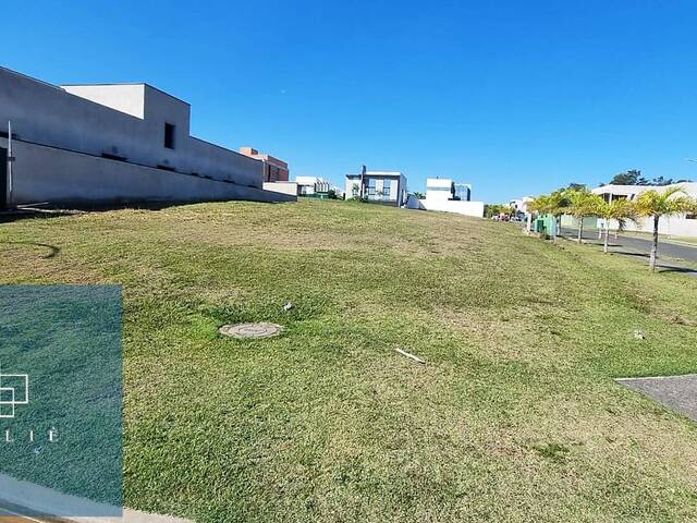
<svg viewBox="0 0 697 523">
<path fill-rule="evenodd" d="M 670 187 L 680 186 L 688 196 L 697 198 L 697 183 L 685 182 L 672 185 L 655 186 L 655 185 L 602 185 L 592 190 L 592 193 L 601 195 L 607 202 L 615 199 L 636 199 L 646 191 L 656 190 L 658 192 L 667 191 Z M 598 220 L 599 227 L 604 227 L 603 220 Z M 609 223 L 611 229 L 615 229 L 617 224 L 614 221 Z M 627 222 L 625 229 L 628 231 L 652 232 L 653 223 L 650 219 L 644 219 L 639 223 Z M 697 215 L 685 214 L 674 217 L 663 217 L 659 223 L 659 232 L 661 234 L 670 234 L 674 236 L 697 236 Z"/>
</svg>

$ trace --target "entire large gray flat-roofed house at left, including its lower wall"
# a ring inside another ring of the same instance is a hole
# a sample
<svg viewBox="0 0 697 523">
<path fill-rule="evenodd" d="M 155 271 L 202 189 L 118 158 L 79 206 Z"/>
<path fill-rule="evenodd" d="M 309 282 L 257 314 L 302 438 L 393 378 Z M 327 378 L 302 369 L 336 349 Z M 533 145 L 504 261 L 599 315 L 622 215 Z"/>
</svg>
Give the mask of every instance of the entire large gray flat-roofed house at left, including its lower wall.
<svg viewBox="0 0 697 523">
<path fill-rule="evenodd" d="M 189 122 L 188 104 L 145 83 L 56 86 L 0 68 L 0 206 L 295 199 Z"/>
</svg>

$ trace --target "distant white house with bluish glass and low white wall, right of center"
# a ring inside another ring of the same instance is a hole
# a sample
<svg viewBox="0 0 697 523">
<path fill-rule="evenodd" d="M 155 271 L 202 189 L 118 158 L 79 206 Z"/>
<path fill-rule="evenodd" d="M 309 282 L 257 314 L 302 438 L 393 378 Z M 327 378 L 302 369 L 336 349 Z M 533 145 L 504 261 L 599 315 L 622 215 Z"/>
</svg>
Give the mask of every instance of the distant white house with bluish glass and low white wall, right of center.
<svg viewBox="0 0 697 523">
<path fill-rule="evenodd" d="M 456 184 L 449 178 L 429 178 L 426 180 L 426 198 L 416 199 L 411 195 L 407 207 L 482 218 L 485 203 L 472 202 L 470 198 L 472 185 Z"/>
</svg>

